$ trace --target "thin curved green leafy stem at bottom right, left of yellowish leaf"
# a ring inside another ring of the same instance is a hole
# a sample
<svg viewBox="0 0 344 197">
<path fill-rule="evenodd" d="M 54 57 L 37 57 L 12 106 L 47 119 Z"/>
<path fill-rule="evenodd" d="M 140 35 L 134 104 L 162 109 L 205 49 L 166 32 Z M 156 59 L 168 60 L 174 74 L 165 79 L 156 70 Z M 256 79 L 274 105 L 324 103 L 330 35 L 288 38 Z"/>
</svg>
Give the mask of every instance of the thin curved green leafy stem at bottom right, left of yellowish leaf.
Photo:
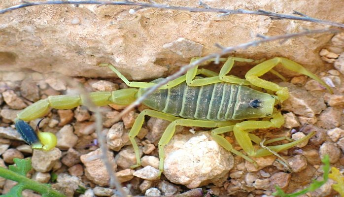
<svg viewBox="0 0 344 197">
<path fill-rule="evenodd" d="M 322 169 L 324 170 L 323 174 L 323 180 L 322 181 L 316 181 L 313 180 L 312 183 L 308 188 L 305 188 L 299 192 L 293 193 L 293 194 L 285 194 L 282 189 L 280 189 L 278 186 L 275 186 L 276 192 L 273 193 L 274 196 L 277 197 L 299 197 L 301 195 L 304 195 L 308 192 L 313 192 L 314 190 L 320 188 L 322 185 L 324 185 L 328 178 L 330 173 L 330 158 L 328 155 L 325 155 L 324 158 L 321 160 L 321 162 L 324 164 Z"/>
</svg>

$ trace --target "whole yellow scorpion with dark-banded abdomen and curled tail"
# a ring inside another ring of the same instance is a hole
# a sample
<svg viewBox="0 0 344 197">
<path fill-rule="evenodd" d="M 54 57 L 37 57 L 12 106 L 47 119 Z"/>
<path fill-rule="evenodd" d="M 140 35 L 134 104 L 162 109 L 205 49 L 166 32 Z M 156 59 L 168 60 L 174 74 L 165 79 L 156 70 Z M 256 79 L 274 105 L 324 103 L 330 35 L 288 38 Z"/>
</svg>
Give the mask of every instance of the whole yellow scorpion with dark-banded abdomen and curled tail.
<svg viewBox="0 0 344 197">
<path fill-rule="evenodd" d="M 197 58 L 193 58 L 193 61 Z M 282 65 L 285 68 L 300 74 L 309 76 L 318 81 L 329 92 L 331 88 L 315 74 L 305 67 L 282 57 L 261 62 L 253 66 L 245 74 L 245 79 L 229 75 L 235 62 L 254 62 L 251 59 L 229 57 L 218 59 L 225 62 L 219 74 L 198 66 L 188 70 L 182 75 L 157 89 L 142 103 L 150 109 L 141 111 L 135 120 L 129 139 L 134 147 L 136 162 L 132 168 L 140 166 L 138 144 L 135 137 L 138 135 L 146 115 L 160 118 L 171 123 L 164 131 L 159 143 L 159 175 L 164 169 L 164 146 L 171 140 L 176 126 L 211 128 L 211 136 L 226 150 L 255 164 L 250 157 L 264 157 L 272 155 L 273 152 L 280 152 L 292 148 L 314 135 L 309 133 L 305 137 L 286 144 L 268 146 L 267 149 L 255 149 L 253 143 L 260 144 L 262 140 L 251 131 L 257 129 L 280 128 L 284 124 L 284 117 L 281 114 L 281 103 L 288 99 L 289 93 L 286 87 L 261 79 L 260 76 L 268 71 L 281 77 L 273 68 Z M 210 61 L 216 61 L 212 59 Z M 117 105 L 129 105 L 140 97 L 147 88 L 156 85 L 163 78 L 151 82 L 130 82 L 111 64 L 100 64 L 113 70 L 130 88 L 120 89 L 112 92 L 92 92 L 89 98 L 97 106 L 111 103 Z M 203 75 L 204 77 L 198 76 Z M 265 92 L 262 92 L 265 90 Z M 272 93 L 268 94 L 266 92 Z M 51 108 L 72 109 L 86 103 L 86 98 L 79 95 L 58 95 L 41 99 L 21 111 L 15 120 L 15 126 L 25 141 L 34 149 L 49 151 L 56 146 L 57 138 L 49 132 L 39 131 L 37 133 L 25 121 L 31 121 L 46 115 Z M 234 132 L 234 136 L 247 154 L 243 154 L 233 148 L 223 134 Z M 264 142 L 269 144 L 275 141 L 286 139 L 280 137 Z"/>
</svg>

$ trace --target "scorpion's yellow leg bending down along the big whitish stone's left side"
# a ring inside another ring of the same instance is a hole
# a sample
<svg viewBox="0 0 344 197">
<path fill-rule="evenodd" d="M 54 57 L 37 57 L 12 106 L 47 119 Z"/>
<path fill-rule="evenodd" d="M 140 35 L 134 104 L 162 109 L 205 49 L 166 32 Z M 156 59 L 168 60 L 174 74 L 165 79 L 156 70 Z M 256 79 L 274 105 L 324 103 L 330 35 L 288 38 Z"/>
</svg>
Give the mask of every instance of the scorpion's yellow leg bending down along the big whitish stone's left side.
<svg viewBox="0 0 344 197">
<path fill-rule="evenodd" d="M 179 125 L 179 126 L 185 126 L 185 127 L 215 128 L 215 127 L 224 127 L 231 124 L 233 123 L 232 122 L 213 122 L 213 121 L 204 121 L 204 120 L 189 120 L 189 119 L 177 119 L 177 120 L 172 121 L 172 123 L 164 131 L 163 136 L 160 138 L 160 141 L 158 143 L 160 174 L 164 170 L 164 159 L 165 159 L 164 147 L 166 144 L 170 142 L 174 134 L 176 126 Z"/>
</svg>

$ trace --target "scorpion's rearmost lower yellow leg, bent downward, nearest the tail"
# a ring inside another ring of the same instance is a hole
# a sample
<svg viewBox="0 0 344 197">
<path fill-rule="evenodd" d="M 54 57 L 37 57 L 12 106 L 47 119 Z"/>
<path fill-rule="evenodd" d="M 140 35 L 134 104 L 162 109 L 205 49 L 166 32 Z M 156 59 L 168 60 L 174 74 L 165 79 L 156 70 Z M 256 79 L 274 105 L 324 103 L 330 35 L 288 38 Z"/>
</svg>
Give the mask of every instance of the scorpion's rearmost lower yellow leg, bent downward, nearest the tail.
<svg viewBox="0 0 344 197">
<path fill-rule="evenodd" d="M 135 123 L 134 123 L 132 129 L 129 132 L 129 139 L 130 139 L 130 141 L 133 144 L 134 151 L 135 151 L 135 156 L 136 156 L 136 162 L 137 162 L 137 164 L 131 166 L 132 168 L 135 168 L 135 167 L 138 167 L 138 166 L 141 165 L 138 144 L 135 141 L 135 137 L 138 135 L 138 132 L 142 128 L 145 115 L 148 115 L 150 117 L 164 119 L 164 120 L 167 120 L 167 121 L 170 121 L 170 122 L 172 122 L 172 121 L 174 121 L 176 119 L 180 119 L 178 117 L 175 117 L 175 116 L 172 116 L 172 115 L 169 115 L 169 114 L 165 114 L 163 112 L 151 110 L 151 109 L 145 109 L 145 110 L 141 111 L 141 113 L 138 115 L 138 118 L 135 120 Z"/>
</svg>

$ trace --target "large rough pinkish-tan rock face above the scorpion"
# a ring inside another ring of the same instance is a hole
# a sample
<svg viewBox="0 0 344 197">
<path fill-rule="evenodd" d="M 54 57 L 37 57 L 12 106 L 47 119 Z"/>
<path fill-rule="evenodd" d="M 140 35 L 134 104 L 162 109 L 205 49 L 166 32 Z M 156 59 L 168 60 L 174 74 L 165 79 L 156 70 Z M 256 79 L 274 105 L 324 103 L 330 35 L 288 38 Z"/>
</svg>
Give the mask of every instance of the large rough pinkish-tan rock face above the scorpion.
<svg viewBox="0 0 344 197">
<path fill-rule="evenodd" d="M 0 8 L 18 3 L 18 0 L 1 0 Z M 171 2 L 172 5 L 191 7 L 198 7 L 198 3 L 198 0 Z M 264 9 L 281 14 L 297 10 L 319 19 L 344 20 L 340 6 L 342 0 L 302 3 L 298 0 L 278 3 L 215 0 L 204 3 L 216 8 Z M 72 76 L 115 76 L 107 67 L 96 66 L 104 62 L 118 67 L 131 79 L 157 78 L 174 71 L 176 66 L 187 64 L 194 56 L 217 51 L 214 43 L 234 46 L 255 39 L 254 35 L 258 33 L 276 35 L 323 27 L 315 23 L 271 20 L 268 16 L 257 15 L 219 17 L 219 13 L 161 9 L 140 9 L 130 14 L 130 8 L 135 7 L 46 5 L 2 14 L 0 21 L 5 25 L 1 27 L 1 37 L 6 39 L 0 42 L 0 69 L 26 68 Z M 330 37 L 330 34 L 304 36 L 284 42 L 283 47 L 270 42 L 238 51 L 237 56 L 252 58 L 252 54 L 259 54 L 254 58 L 262 59 L 266 58 L 266 54 L 271 57 L 283 54 L 314 71 L 313 62 L 324 64 L 319 61 L 317 53 Z"/>
</svg>

